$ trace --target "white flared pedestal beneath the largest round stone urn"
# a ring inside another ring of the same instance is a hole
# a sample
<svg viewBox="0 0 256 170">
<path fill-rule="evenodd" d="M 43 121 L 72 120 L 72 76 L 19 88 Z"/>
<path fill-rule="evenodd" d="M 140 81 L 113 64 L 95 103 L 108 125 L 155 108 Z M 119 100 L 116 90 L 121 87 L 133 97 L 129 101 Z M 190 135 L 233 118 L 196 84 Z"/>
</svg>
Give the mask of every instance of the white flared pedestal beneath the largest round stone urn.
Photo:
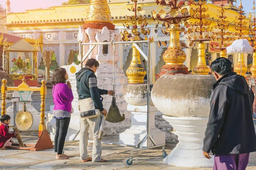
<svg viewBox="0 0 256 170">
<path fill-rule="evenodd" d="M 176 167 L 210 168 L 214 156 L 206 159 L 203 156 L 203 139 L 208 118 L 163 116 L 176 130 L 179 143 L 163 159 L 165 164 Z"/>
</svg>

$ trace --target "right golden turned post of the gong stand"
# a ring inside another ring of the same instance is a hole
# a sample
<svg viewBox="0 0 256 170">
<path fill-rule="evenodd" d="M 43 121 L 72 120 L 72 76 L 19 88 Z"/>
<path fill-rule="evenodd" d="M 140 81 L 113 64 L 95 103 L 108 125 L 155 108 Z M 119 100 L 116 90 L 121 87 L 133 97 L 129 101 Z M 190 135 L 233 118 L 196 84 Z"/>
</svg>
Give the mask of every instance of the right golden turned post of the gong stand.
<svg viewBox="0 0 256 170">
<path fill-rule="evenodd" d="M 46 93 L 47 93 L 47 88 L 46 88 L 46 80 L 42 80 L 42 86 L 41 86 L 41 90 L 40 90 L 40 94 L 41 94 L 41 113 L 40 113 L 40 125 L 39 125 L 39 136 L 41 131 L 46 130 L 46 125 L 44 124 L 44 116 L 45 116 L 45 98 L 46 98 Z"/>
</svg>

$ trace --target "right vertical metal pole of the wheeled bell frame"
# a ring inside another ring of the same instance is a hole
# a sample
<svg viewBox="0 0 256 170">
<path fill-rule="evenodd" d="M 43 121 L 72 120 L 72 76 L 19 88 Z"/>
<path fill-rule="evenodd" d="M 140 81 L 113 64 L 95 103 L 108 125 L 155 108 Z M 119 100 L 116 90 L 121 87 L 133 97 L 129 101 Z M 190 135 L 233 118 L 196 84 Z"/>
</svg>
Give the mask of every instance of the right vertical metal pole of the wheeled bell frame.
<svg viewBox="0 0 256 170">
<path fill-rule="evenodd" d="M 148 139 L 147 139 L 147 147 L 149 147 L 149 121 L 150 121 L 150 69 L 149 69 L 149 65 L 150 65 L 150 41 L 148 41 L 148 111 L 147 111 L 147 135 L 148 135 Z"/>
</svg>

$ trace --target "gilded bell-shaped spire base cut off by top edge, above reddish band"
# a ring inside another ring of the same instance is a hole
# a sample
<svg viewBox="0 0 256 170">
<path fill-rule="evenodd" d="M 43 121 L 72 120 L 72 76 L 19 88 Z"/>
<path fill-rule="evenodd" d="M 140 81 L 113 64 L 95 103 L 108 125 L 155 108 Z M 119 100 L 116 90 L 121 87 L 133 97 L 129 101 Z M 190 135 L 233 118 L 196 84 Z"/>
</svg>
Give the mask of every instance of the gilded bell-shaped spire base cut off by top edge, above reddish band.
<svg viewBox="0 0 256 170">
<path fill-rule="evenodd" d="M 113 24 L 107 0 L 91 0 L 84 23 Z"/>
</svg>

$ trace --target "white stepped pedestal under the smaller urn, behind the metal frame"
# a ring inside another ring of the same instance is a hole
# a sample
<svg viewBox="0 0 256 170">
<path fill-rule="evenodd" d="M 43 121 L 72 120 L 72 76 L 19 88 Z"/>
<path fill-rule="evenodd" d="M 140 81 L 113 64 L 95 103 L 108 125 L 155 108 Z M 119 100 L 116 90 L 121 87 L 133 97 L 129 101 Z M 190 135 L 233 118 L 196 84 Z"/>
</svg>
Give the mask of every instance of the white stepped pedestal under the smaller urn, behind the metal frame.
<svg viewBox="0 0 256 170">
<path fill-rule="evenodd" d="M 127 111 L 131 111 L 131 128 L 125 130 L 125 132 L 119 134 L 120 144 L 137 145 L 147 134 L 147 105 L 134 106 L 128 105 Z M 150 106 L 150 130 L 149 134 L 153 138 L 154 142 L 159 144 L 165 144 L 166 134 L 165 132 L 155 127 L 155 112 L 157 108 Z M 150 146 L 154 146 L 151 141 Z M 147 146 L 147 142 L 143 146 Z"/>
</svg>

